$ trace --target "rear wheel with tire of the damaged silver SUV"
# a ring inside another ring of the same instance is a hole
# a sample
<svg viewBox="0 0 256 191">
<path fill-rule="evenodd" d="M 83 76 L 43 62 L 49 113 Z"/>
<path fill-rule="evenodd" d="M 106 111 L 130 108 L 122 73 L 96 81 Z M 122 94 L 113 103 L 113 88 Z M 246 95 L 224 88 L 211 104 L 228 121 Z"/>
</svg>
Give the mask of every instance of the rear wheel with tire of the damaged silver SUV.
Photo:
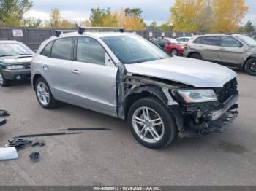
<svg viewBox="0 0 256 191">
<path fill-rule="evenodd" d="M 53 98 L 48 83 L 42 77 L 37 79 L 35 92 L 37 96 L 37 101 L 43 108 L 53 109 L 57 106 L 57 101 L 55 98 Z"/>
</svg>

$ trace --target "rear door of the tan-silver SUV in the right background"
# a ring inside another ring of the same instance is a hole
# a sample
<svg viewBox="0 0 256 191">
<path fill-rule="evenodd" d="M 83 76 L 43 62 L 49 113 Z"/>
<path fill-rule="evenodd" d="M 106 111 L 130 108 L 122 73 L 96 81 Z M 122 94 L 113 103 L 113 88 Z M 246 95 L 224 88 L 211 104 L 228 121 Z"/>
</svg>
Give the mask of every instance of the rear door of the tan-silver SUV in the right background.
<svg viewBox="0 0 256 191">
<path fill-rule="evenodd" d="M 202 44 L 198 44 L 198 49 L 207 61 L 219 61 L 219 36 L 204 36 Z"/>
</svg>

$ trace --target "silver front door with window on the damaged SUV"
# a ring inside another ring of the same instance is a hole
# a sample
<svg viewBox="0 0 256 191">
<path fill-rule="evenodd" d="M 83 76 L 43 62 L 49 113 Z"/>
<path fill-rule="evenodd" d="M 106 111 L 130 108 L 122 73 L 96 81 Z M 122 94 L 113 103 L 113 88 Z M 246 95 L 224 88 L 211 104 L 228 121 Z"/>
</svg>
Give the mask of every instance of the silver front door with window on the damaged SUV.
<svg viewBox="0 0 256 191">
<path fill-rule="evenodd" d="M 76 104 L 116 116 L 117 67 L 102 45 L 91 37 L 77 38 L 72 64 L 72 92 Z"/>
</svg>

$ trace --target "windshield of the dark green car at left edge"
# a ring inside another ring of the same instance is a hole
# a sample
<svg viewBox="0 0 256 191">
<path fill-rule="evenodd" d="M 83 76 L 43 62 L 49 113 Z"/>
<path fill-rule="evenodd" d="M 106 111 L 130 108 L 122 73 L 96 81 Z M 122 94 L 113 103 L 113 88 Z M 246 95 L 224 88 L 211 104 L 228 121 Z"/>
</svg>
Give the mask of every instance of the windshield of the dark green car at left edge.
<svg viewBox="0 0 256 191">
<path fill-rule="evenodd" d="M 12 55 L 32 55 L 33 52 L 21 43 L 3 43 L 0 44 L 0 57 Z"/>
</svg>

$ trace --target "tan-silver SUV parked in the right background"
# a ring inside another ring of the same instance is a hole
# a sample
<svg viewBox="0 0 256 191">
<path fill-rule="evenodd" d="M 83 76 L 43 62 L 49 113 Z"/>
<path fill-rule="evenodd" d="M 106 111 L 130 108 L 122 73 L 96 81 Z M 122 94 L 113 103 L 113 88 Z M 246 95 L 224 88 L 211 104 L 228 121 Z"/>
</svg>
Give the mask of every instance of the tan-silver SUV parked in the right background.
<svg viewBox="0 0 256 191">
<path fill-rule="evenodd" d="M 244 69 L 256 75 L 256 41 L 241 34 L 193 36 L 184 56 Z"/>
</svg>

